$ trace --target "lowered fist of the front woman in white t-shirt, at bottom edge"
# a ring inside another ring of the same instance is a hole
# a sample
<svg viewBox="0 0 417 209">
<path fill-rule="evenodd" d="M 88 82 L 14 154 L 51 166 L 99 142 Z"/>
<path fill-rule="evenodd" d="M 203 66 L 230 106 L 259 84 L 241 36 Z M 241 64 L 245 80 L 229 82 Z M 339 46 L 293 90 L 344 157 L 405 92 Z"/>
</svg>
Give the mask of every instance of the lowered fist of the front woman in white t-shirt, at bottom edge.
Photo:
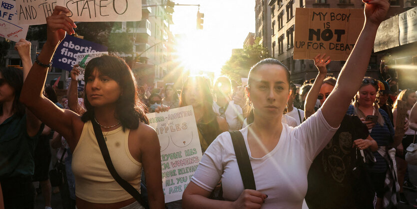
<svg viewBox="0 0 417 209">
<path fill-rule="evenodd" d="M 261 208 L 268 195 L 252 189 L 245 189 L 233 202 L 234 208 Z"/>
</svg>

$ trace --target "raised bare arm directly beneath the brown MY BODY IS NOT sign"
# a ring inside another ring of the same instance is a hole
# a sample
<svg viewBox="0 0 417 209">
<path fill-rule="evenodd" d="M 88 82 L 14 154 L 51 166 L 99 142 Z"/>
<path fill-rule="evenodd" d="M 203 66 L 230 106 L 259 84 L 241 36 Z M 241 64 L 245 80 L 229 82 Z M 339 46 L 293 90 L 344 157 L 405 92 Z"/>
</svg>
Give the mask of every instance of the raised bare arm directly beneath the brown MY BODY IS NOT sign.
<svg viewBox="0 0 417 209">
<path fill-rule="evenodd" d="M 317 96 L 319 95 L 320 88 L 323 84 L 324 78 L 326 78 L 327 68 L 326 65 L 330 63 L 330 56 L 326 57 L 326 54 L 317 54 L 314 57 L 314 64 L 316 64 L 317 69 L 319 69 L 319 74 L 317 74 L 316 79 L 314 80 L 313 86 L 310 88 L 306 102 L 304 103 L 304 117 L 309 118 L 314 112 L 314 105 L 317 101 Z"/>
</svg>

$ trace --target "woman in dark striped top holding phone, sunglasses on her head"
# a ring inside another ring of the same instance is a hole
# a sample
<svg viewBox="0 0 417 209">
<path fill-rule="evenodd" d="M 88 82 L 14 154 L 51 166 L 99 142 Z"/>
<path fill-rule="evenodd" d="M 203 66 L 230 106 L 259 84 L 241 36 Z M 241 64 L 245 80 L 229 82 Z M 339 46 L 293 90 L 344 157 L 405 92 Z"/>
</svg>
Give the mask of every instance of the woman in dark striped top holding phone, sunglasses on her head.
<svg viewBox="0 0 417 209">
<path fill-rule="evenodd" d="M 400 186 L 394 171 L 395 149 L 399 141 L 394 141 L 394 126 L 387 112 L 379 108 L 377 94 L 382 85 L 372 77 L 364 77 L 347 114 L 357 115 L 368 126 L 370 135 L 378 143 L 378 150 L 373 152 L 376 162 L 369 167 L 372 184 L 377 192 L 377 208 L 397 204 Z M 377 116 L 376 121 L 367 119 Z"/>
</svg>

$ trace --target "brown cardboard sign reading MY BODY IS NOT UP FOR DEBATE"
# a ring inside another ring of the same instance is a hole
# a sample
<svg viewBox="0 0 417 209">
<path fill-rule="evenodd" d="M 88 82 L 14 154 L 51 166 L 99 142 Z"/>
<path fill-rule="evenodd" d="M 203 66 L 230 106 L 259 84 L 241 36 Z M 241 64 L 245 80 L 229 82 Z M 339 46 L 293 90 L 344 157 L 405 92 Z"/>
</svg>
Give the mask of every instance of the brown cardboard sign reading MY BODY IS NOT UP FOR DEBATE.
<svg viewBox="0 0 417 209">
<path fill-rule="evenodd" d="M 347 60 L 364 20 L 364 9 L 296 8 L 294 59 L 326 53 L 332 60 Z"/>
</svg>

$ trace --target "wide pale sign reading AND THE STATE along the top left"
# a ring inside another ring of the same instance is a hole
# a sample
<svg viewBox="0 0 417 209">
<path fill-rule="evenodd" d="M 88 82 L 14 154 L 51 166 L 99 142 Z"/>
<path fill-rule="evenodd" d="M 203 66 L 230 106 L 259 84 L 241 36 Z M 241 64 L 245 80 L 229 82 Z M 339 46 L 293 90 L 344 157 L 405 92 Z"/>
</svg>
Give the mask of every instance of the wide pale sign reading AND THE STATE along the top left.
<svg viewBox="0 0 417 209">
<path fill-rule="evenodd" d="M 140 0 L 16 0 L 20 24 L 44 24 L 53 8 L 64 6 L 74 21 L 140 21 Z"/>
</svg>

